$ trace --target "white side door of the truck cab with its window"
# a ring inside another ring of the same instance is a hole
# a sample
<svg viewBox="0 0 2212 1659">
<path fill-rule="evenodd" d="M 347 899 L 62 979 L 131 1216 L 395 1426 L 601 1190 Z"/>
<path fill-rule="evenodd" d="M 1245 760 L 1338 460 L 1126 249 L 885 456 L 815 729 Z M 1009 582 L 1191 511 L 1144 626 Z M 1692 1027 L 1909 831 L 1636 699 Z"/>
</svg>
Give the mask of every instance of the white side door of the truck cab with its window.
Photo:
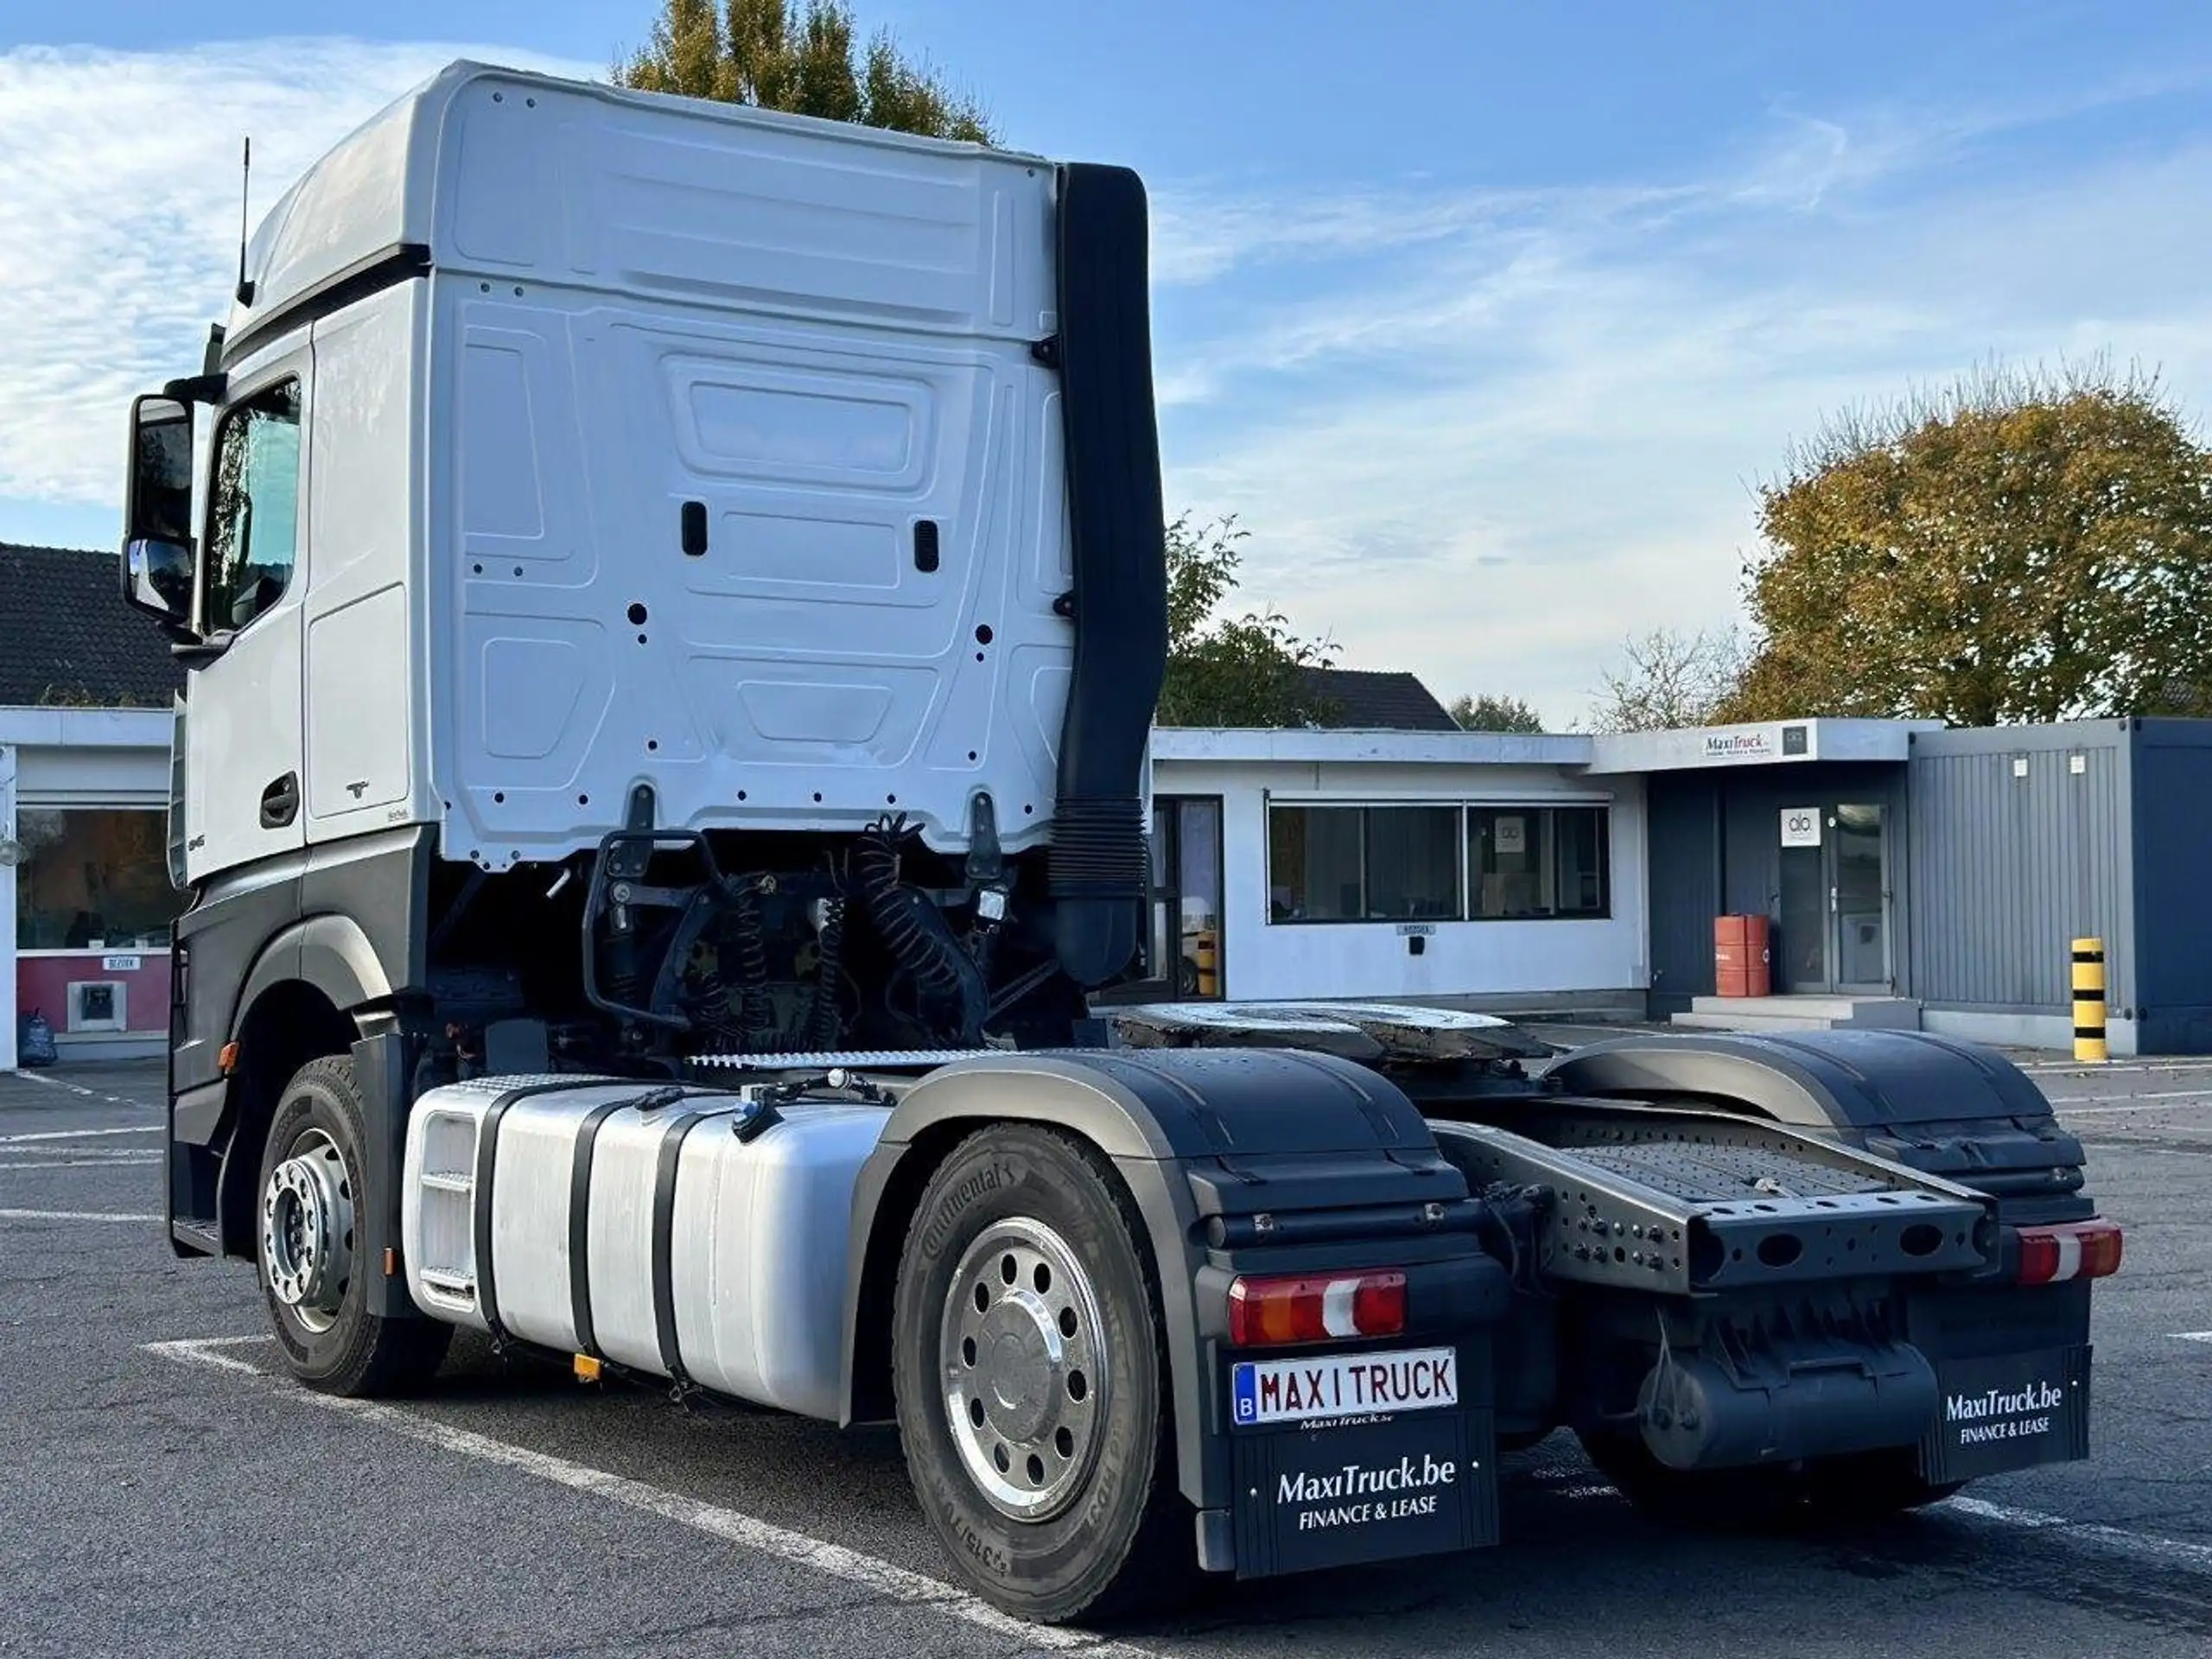
<svg viewBox="0 0 2212 1659">
<path fill-rule="evenodd" d="M 307 338 L 232 372 L 208 451 L 186 684 L 186 880 L 305 845 L 301 604 L 307 562 Z"/>
</svg>

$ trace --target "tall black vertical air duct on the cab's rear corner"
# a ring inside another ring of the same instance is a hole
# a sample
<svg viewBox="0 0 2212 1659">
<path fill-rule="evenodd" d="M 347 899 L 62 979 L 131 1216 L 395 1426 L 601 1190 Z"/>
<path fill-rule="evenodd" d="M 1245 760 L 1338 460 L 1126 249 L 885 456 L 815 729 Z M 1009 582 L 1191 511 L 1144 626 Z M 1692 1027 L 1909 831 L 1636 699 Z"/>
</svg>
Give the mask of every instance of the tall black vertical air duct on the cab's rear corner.
<svg viewBox="0 0 2212 1659">
<path fill-rule="evenodd" d="M 1168 549 L 1152 414 L 1144 184 L 1060 168 L 1060 367 L 1068 451 L 1075 672 L 1060 732 L 1051 889 L 1060 967 L 1117 980 L 1144 938 L 1144 759 L 1168 668 Z"/>
</svg>

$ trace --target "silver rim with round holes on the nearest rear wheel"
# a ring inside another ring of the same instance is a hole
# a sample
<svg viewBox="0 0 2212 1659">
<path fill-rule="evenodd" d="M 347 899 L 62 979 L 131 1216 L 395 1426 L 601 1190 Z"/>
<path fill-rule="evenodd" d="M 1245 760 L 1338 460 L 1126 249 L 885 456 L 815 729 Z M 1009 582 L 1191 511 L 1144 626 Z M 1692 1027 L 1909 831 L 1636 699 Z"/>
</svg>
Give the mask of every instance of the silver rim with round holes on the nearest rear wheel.
<svg viewBox="0 0 2212 1659">
<path fill-rule="evenodd" d="M 1113 1374 L 1097 1294 L 1066 1239 L 993 1221 L 960 1256 L 940 1323 L 945 1422 L 969 1480 L 1013 1520 L 1051 1520 L 1097 1462 Z"/>
</svg>

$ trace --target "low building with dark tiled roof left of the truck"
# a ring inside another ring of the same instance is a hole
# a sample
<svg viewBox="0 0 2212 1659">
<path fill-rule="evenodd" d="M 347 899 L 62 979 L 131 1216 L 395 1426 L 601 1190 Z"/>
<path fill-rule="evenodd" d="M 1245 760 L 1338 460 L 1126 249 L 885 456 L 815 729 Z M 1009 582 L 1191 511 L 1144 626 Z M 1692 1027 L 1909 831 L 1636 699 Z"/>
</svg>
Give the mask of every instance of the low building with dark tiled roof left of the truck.
<svg viewBox="0 0 2212 1659">
<path fill-rule="evenodd" d="M 64 1060 L 161 1051 L 181 684 L 113 553 L 0 544 L 0 1071 L 33 1013 Z"/>
</svg>

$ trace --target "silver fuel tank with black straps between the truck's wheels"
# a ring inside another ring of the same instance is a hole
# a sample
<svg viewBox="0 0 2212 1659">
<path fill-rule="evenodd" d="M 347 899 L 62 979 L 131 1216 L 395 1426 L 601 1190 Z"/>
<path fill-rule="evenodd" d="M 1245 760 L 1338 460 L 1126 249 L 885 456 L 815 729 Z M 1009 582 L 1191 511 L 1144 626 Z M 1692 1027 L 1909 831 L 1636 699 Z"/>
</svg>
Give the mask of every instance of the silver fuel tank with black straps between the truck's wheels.
<svg viewBox="0 0 2212 1659">
<path fill-rule="evenodd" d="M 891 1108 L 754 1110 L 635 1079 L 434 1088 L 400 1194 L 414 1303 L 834 1420 L 852 1190 Z"/>
</svg>

